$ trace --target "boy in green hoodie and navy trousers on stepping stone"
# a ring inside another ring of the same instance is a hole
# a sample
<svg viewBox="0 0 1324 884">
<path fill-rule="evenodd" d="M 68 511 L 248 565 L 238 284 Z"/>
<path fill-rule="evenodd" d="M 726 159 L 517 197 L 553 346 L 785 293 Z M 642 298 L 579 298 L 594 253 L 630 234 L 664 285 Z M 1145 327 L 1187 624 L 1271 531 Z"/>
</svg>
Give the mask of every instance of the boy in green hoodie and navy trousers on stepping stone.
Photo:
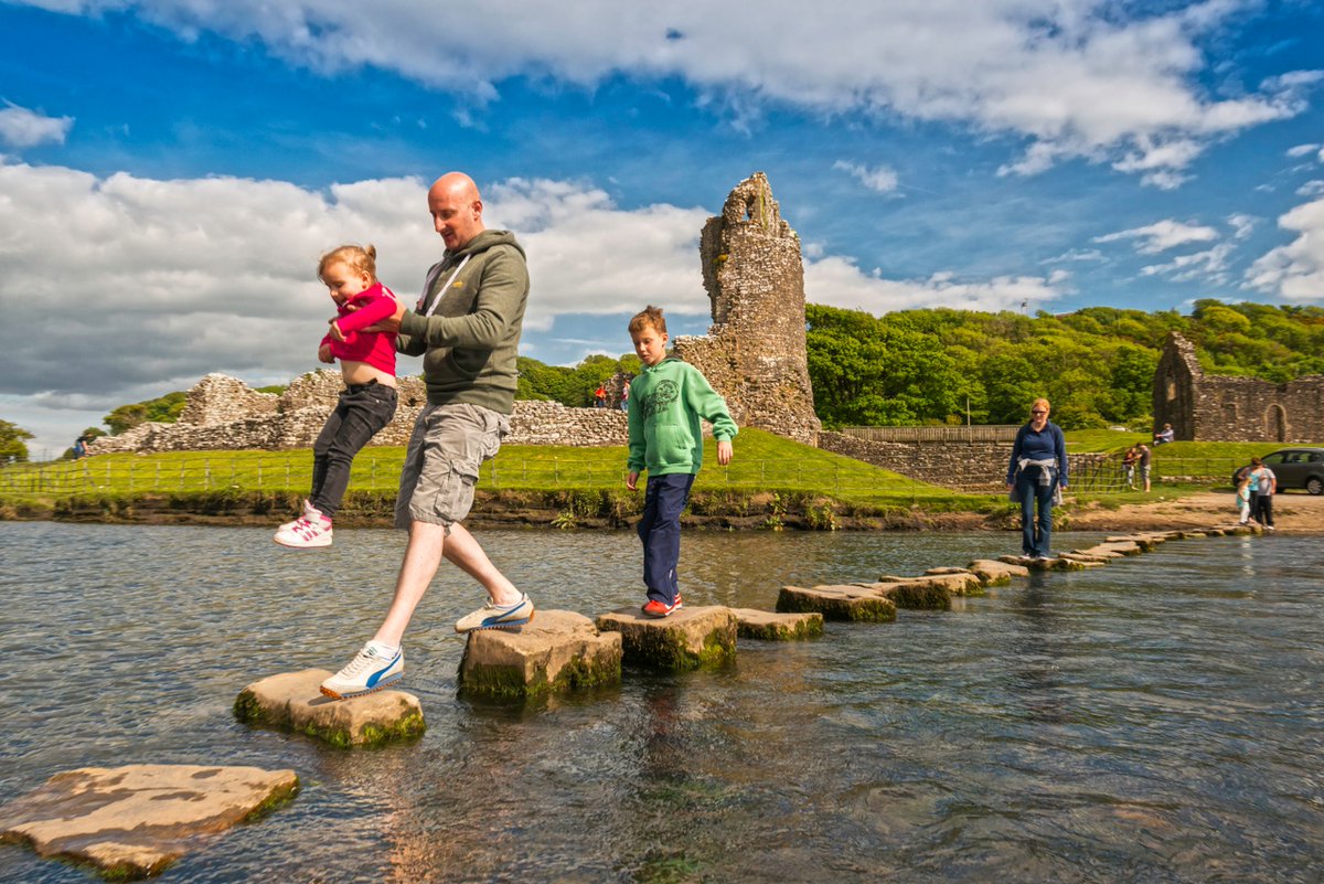
<svg viewBox="0 0 1324 884">
<path fill-rule="evenodd" d="M 718 463 L 731 463 L 735 421 L 726 400 L 718 396 L 695 367 L 666 355 L 667 333 L 662 311 L 651 304 L 630 320 L 634 352 L 643 371 L 630 382 L 630 455 L 625 487 L 637 488 L 647 467 L 643 517 L 643 584 L 647 617 L 666 617 L 681 607 L 675 566 L 681 558 L 681 511 L 690 499 L 690 486 L 703 464 L 703 433 L 699 418 L 712 425 L 718 439 Z"/>
</svg>

